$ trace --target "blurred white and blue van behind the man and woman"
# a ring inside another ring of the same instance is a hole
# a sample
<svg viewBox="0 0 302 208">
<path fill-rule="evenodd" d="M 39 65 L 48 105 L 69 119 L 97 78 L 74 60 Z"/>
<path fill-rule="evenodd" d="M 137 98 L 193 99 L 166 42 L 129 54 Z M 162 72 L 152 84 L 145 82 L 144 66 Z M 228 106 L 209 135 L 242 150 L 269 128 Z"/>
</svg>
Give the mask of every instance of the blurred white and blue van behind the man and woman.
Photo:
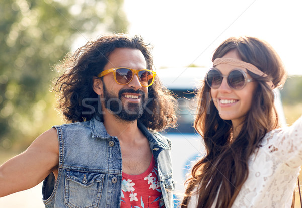
<svg viewBox="0 0 302 208">
<path fill-rule="evenodd" d="M 194 116 L 196 115 L 197 102 L 194 101 L 196 90 L 201 86 L 201 81 L 209 68 L 165 68 L 156 71 L 163 85 L 177 95 L 178 101 L 178 127 L 168 129 L 162 134 L 172 141 L 173 177 L 176 182 L 174 199 L 177 207 L 181 201 L 187 174 L 190 173 L 194 163 L 205 155 L 203 140 L 193 128 Z M 281 123 L 286 125 L 282 108 L 280 92 L 275 91 L 275 105 L 278 110 Z"/>
</svg>

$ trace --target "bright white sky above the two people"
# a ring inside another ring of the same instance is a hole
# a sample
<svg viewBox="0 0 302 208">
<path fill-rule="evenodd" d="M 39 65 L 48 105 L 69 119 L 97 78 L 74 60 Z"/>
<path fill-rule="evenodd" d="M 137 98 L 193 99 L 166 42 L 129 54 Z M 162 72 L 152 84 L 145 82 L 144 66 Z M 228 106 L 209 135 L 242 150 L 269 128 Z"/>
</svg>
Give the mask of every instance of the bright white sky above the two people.
<svg viewBox="0 0 302 208">
<path fill-rule="evenodd" d="M 300 0 L 124 0 L 129 33 L 154 45 L 154 65 L 211 66 L 215 48 L 231 36 L 272 45 L 289 75 L 302 75 Z"/>
</svg>

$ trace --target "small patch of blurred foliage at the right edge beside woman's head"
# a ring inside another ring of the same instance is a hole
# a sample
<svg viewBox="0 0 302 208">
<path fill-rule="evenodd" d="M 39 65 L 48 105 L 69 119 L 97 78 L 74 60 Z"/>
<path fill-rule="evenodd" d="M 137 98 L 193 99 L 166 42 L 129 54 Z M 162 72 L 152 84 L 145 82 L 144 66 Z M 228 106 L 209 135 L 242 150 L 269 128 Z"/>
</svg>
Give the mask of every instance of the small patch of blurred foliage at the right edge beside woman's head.
<svg viewBox="0 0 302 208">
<path fill-rule="evenodd" d="M 295 105 L 302 102 L 302 76 L 290 76 L 281 92 L 283 105 Z"/>
</svg>

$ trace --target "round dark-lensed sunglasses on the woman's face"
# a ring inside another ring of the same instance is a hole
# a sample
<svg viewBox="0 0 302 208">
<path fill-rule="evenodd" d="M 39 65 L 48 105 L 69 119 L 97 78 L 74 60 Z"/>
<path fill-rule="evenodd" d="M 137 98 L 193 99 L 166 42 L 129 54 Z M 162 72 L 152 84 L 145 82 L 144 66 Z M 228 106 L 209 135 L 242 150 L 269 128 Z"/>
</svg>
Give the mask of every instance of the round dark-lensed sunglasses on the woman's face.
<svg viewBox="0 0 302 208">
<path fill-rule="evenodd" d="M 218 89 L 221 86 L 223 77 L 226 78 L 229 86 L 232 89 L 240 90 L 245 87 L 248 82 L 254 79 L 248 79 L 247 74 L 241 69 L 233 69 L 228 76 L 222 75 L 217 68 L 210 68 L 206 73 L 205 80 L 208 86 L 212 89 Z"/>
</svg>

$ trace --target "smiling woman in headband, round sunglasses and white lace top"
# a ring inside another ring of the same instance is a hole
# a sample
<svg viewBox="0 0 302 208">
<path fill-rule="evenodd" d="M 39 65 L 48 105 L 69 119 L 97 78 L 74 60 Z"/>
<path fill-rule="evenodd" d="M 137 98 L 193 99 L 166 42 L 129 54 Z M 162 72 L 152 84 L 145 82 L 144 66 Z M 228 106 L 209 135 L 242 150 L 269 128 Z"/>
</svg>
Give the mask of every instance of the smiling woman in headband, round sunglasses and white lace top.
<svg viewBox="0 0 302 208">
<path fill-rule="evenodd" d="M 273 89 L 286 72 L 253 37 L 229 38 L 197 94 L 195 129 L 206 156 L 195 164 L 182 207 L 290 207 L 302 164 L 302 119 L 280 128 Z"/>
</svg>

